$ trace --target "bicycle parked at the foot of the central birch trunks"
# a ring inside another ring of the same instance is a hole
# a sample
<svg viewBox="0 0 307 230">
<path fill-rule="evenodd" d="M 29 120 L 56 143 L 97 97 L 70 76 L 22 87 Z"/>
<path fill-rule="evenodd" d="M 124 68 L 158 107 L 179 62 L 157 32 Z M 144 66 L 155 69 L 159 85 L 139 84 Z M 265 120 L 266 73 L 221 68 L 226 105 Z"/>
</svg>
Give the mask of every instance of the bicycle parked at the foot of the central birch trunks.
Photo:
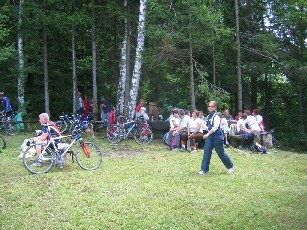
<svg viewBox="0 0 307 230">
<path fill-rule="evenodd" d="M 149 124 L 142 118 L 131 121 L 124 116 L 120 116 L 116 124 L 109 124 L 107 127 L 107 139 L 111 143 L 128 139 L 130 133 L 133 133 L 134 140 L 140 145 L 149 144 L 153 139 Z"/>
</svg>

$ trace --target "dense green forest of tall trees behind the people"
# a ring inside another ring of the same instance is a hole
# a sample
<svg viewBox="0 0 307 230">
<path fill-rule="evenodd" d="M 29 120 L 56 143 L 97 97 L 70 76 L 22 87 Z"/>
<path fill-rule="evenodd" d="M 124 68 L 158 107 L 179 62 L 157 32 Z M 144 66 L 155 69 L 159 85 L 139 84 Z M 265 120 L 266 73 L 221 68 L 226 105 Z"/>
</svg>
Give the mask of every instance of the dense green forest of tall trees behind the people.
<svg viewBox="0 0 307 230">
<path fill-rule="evenodd" d="M 130 115 L 216 100 L 307 149 L 305 0 L 0 2 L 0 91 L 24 120 L 75 112 L 77 89 Z"/>
</svg>

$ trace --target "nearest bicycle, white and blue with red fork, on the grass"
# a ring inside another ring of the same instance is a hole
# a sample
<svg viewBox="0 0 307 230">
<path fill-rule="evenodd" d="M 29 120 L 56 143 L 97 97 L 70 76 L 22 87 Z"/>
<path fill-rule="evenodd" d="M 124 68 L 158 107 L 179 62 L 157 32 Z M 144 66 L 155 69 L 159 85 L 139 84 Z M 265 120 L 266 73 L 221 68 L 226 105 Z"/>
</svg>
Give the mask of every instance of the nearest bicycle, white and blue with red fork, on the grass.
<svg viewBox="0 0 307 230">
<path fill-rule="evenodd" d="M 23 154 L 23 165 L 32 174 L 41 174 L 49 172 L 56 164 L 60 169 L 63 169 L 64 156 L 67 153 L 72 153 L 75 156 L 77 164 L 84 170 L 96 170 L 102 164 L 102 152 L 98 146 L 91 142 L 85 142 L 81 138 L 82 128 L 75 127 L 71 135 L 52 137 L 50 134 L 50 126 L 48 125 L 48 133 L 50 140 L 47 144 L 42 145 L 42 153 L 37 156 L 36 144 L 33 140 L 28 143 L 28 148 Z M 57 143 L 58 140 L 71 137 L 72 140 L 69 144 Z M 79 142 L 76 152 L 70 150 L 72 146 Z M 63 144 L 60 146 L 60 144 Z M 38 165 L 37 165 L 38 162 Z"/>
</svg>

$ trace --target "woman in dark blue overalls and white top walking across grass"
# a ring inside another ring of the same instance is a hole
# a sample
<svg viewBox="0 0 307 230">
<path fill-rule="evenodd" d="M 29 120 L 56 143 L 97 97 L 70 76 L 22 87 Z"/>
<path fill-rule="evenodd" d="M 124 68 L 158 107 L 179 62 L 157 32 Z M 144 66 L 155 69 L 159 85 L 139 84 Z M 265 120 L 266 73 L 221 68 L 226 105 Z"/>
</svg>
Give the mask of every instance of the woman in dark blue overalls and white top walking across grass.
<svg viewBox="0 0 307 230">
<path fill-rule="evenodd" d="M 210 160 L 212 156 L 212 150 L 215 149 L 217 155 L 227 168 L 228 173 L 233 173 L 234 165 L 225 153 L 224 150 L 224 135 L 221 130 L 220 123 L 221 118 L 216 112 L 217 103 L 210 101 L 208 103 L 209 115 L 207 116 L 208 133 L 203 138 L 205 139 L 204 155 L 201 163 L 201 170 L 198 172 L 200 175 L 205 175 L 209 172 Z"/>
</svg>

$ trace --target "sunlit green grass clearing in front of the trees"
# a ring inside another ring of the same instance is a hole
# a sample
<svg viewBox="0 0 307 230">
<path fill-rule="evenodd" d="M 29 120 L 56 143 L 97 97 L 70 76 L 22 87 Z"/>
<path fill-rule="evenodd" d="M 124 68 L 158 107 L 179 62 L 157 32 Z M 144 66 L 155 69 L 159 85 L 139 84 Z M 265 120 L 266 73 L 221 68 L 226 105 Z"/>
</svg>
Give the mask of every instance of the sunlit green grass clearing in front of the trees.
<svg viewBox="0 0 307 230">
<path fill-rule="evenodd" d="M 214 153 L 201 176 L 202 151 L 95 138 L 98 170 L 71 163 L 31 175 L 17 158 L 30 136 L 6 136 L 0 153 L 0 229 L 307 229 L 307 154 L 230 148 L 234 174 Z"/>
</svg>

